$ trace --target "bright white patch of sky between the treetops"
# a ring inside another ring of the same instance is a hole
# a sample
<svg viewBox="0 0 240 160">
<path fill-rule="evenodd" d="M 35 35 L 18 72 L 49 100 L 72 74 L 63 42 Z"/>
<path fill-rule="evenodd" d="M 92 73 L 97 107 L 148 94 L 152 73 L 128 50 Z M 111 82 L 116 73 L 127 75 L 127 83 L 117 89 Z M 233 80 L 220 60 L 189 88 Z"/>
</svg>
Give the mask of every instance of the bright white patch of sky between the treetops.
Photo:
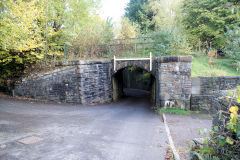
<svg viewBox="0 0 240 160">
<path fill-rule="evenodd" d="M 119 23 L 124 15 L 124 8 L 130 0 L 102 0 L 100 16 L 104 19 L 112 18 L 113 23 Z"/>
</svg>

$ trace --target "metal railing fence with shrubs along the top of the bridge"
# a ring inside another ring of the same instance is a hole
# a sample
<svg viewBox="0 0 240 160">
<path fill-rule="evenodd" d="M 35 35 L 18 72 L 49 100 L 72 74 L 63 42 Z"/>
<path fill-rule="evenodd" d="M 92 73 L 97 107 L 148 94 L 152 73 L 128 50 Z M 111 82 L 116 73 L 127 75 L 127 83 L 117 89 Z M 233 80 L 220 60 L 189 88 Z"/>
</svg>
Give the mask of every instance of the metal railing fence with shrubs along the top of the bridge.
<svg viewBox="0 0 240 160">
<path fill-rule="evenodd" d="M 88 45 L 88 46 L 66 46 L 64 47 L 65 57 L 90 58 L 103 57 L 146 57 L 152 52 L 153 55 L 160 56 L 158 48 L 152 37 L 138 37 L 128 39 L 114 39 L 108 44 Z"/>
</svg>

